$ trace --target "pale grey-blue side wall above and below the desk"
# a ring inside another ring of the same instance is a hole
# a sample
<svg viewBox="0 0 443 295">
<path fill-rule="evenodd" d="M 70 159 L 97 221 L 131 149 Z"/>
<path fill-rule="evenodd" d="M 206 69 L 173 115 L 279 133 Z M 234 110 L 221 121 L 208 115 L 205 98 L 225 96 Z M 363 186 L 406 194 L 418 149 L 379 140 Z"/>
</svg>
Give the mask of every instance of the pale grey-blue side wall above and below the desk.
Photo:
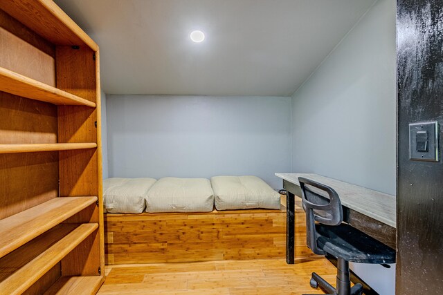
<svg viewBox="0 0 443 295">
<path fill-rule="evenodd" d="M 395 195 L 395 16 L 395 0 L 377 1 L 294 93 L 293 172 Z M 395 267 L 354 269 L 380 294 L 395 293 Z"/>
</svg>

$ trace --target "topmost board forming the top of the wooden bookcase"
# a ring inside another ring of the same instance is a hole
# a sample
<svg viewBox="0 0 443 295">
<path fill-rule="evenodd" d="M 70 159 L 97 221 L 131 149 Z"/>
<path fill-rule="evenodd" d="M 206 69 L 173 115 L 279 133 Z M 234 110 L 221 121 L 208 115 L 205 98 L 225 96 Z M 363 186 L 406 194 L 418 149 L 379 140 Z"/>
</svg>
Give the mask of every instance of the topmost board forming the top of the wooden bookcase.
<svg viewBox="0 0 443 295">
<path fill-rule="evenodd" d="M 98 50 L 96 42 L 52 0 L 0 1 L 0 9 L 55 45 L 85 44 Z"/>
</svg>

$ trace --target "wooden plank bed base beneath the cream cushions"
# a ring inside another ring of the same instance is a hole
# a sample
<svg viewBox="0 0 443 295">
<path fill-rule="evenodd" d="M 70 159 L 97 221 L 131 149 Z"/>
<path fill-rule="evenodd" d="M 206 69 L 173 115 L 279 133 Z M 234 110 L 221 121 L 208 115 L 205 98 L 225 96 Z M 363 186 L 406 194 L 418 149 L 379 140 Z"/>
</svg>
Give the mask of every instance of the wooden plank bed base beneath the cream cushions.
<svg viewBox="0 0 443 295">
<path fill-rule="evenodd" d="M 296 258 L 305 246 L 305 212 L 296 210 Z M 105 214 L 107 265 L 285 257 L 286 209 L 209 213 Z"/>
</svg>

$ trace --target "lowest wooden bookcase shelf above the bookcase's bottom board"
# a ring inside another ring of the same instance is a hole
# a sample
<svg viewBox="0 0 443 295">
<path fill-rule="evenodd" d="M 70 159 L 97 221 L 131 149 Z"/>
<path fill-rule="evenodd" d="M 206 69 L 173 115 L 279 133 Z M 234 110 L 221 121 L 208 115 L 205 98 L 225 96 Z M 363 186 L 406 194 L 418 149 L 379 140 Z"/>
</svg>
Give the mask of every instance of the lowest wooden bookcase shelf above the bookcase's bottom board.
<svg viewBox="0 0 443 295">
<path fill-rule="evenodd" d="M 42 254 L 39 254 L 3 280 L 0 283 L 1 292 L 10 295 L 22 294 L 96 229 L 98 229 L 97 223 L 85 223 L 78 226 Z"/>
</svg>

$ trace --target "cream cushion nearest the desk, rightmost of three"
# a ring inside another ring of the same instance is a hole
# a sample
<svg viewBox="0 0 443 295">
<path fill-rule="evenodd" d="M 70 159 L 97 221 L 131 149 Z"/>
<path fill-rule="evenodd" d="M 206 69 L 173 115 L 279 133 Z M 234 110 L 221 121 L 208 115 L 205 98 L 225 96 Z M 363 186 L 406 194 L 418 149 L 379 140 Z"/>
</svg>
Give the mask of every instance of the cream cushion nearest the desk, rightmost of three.
<svg viewBox="0 0 443 295">
<path fill-rule="evenodd" d="M 257 176 L 215 176 L 210 183 L 217 210 L 280 209 L 280 195 Z"/>
</svg>

